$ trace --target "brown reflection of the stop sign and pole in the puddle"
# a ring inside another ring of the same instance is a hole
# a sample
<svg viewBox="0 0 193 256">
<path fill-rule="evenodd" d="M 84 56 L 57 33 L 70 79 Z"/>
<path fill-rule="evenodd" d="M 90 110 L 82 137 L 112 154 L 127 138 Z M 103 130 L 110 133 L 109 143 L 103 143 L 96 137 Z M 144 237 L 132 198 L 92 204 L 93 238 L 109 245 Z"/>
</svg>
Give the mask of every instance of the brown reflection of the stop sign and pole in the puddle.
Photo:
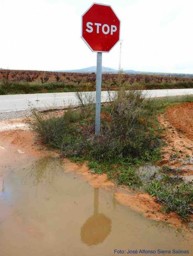
<svg viewBox="0 0 193 256">
<path fill-rule="evenodd" d="M 99 188 L 94 188 L 94 214 L 80 230 L 81 241 L 87 245 L 102 243 L 111 232 L 111 220 L 99 214 Z"/>
</svg>

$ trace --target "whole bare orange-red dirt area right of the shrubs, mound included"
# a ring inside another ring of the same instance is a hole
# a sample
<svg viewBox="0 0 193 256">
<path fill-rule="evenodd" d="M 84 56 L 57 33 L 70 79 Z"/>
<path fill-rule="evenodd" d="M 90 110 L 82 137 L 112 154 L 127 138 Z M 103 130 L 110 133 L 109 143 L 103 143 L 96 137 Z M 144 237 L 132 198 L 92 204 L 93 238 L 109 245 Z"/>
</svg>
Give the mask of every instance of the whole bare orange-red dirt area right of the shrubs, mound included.
<svg viewBox="0 0 193 256">
<path fill-rule="evenodd" d="M 168 108 L 159 122 L 166 143 L 159 163 L 180 170 L 182 175 L 193 175 L 193 103 Z"/>
</svg>

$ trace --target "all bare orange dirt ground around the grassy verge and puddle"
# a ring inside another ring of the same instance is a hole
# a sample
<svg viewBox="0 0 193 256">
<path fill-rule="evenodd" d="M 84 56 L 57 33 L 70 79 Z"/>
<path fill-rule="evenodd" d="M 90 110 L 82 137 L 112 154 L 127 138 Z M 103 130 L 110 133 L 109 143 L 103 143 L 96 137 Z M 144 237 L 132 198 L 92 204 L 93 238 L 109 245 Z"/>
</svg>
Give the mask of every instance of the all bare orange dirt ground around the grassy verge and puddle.
<svg viewBox="0 0 193 256">
<path fill-rule="evenodd" d="M 193 175 L 193 103 L 175 105 L 167 109 L 165 115 L 159 116 L 159 122 L 164 127 L 163 159 L 159 165 L 169 165 L 171 168 L 181 168 L 182 175 Z M 27 152 L 31 155 L 59 155 L 58 152 L 46 151 L 46 148 L 35 139 L 35 135 L 25 127 L 9 127 L 9 124 L 19 124 L 21 120 L 9 120 L 0 123 L 0 127 L 6 124 L 7 129 L 0 131 L 0 155 L 1 159 L 8 154 L 10 149 L 16 149 L 19 154 Z M 23 124 L 23 123 L 22 123 Z M 12 130 L 14 129 L 14 130 Z M 4 156 L 3 156 L 4 155 Z M 11 157 L 11 156 L 10 156 Z M 10 159 L 13 160 L 13 159 Z M 116 200 L 132 210 L 142 212 L 146 217 L 156 221 L 165 221 L 178 228 L 182 221 L 173 212 L 165 214 L 161 212 L 161 205 L 154 201 L 147 193 L 141 194 L 128 189 L 125 186 L 117 186 L 108 180 L 107 174 L 94 174 L 86 163 L 79 165 L 68 159 L 63 159 L 65 172 L 74 172 L 93 187 L 103 187 L 114 193 Z"/>
</svg>

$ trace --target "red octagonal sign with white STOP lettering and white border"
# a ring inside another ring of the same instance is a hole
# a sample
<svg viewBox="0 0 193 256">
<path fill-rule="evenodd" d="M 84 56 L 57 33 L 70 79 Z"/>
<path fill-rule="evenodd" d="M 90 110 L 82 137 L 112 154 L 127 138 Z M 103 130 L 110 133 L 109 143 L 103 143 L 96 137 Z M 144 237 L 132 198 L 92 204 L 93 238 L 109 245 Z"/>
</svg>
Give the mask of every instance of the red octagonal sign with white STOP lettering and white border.
<svg viewBox="0 0 193 256">
<path fill-rule="evenodd" d="M 82 36 L 93 52 L 110 52 L 119 41 L 120 20 L 110 5 L 93 3 L 82 15 Z"/>
</svg>

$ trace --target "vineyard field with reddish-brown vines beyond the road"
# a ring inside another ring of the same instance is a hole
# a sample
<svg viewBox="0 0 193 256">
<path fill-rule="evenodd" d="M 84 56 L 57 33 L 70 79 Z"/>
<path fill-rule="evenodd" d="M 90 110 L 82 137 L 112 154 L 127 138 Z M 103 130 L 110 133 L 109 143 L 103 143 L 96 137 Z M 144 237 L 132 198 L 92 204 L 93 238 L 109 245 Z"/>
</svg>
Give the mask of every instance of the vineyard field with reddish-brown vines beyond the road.
<svg viewBox="0 0 193 256">
<path fill-rule="evenodd" d="M 102 74 L 102 90 L 192 88 L 193 77 L 145 74 Z M 95 91 L 96 74 L 50 71 L 0 70 L 0 94 Z"/>
</svg>

